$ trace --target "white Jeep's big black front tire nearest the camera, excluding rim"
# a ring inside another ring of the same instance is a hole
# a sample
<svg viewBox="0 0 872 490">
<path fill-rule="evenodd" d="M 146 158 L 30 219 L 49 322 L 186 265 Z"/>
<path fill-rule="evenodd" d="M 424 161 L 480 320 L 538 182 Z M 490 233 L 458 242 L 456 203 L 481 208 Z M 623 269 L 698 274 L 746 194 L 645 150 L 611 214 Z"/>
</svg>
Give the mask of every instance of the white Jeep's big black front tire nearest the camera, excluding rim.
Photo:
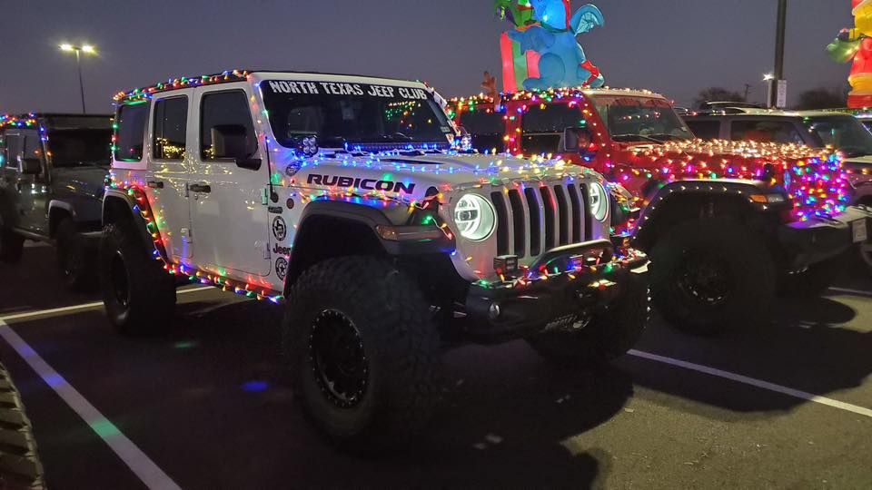
<svg viewBox="0 0 872 490">
<path fill-rule="evenodd" d="M 365 390 L 352 407 L 316 372 L 316 321 L 339 312 L 359 333 Z M 342 257 L 306 270 L 289 294 L 283 348 L 294 390 L 332 442 L 352 452 L 396 448 L 421 433 L 438 400 L 440 338 L 414 280 L 389 260 Z"/>
</svg>

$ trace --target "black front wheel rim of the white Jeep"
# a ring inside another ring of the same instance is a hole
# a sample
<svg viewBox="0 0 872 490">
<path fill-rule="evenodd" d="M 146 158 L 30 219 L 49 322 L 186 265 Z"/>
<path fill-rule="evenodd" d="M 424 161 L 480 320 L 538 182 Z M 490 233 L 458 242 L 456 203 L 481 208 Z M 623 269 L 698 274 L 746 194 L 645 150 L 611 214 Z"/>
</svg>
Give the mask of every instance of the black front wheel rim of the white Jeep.
<svg viewBox="0 0 872 490">
<path fill-rule="evenodd" d="M 369 361 L 360 331 L 344 313 L 325 309 L 312 321 L 309 358 L 318 386 L 333 405 L 351 408 L 361 402 Z"/>
</svg>

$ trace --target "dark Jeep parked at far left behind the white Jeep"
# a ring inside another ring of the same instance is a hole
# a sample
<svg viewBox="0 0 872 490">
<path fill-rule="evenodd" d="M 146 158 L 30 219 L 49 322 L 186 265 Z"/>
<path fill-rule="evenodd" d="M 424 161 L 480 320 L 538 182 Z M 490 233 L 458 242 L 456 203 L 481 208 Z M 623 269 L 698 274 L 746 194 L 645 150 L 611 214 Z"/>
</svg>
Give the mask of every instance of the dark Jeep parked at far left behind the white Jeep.
<svg viewBox="0 0 872 490">
<path fill-rule="evenodd" d="M 0 115 L 0 260 L 54 241 L 67 285 L 87 286 L 109 169 L 108 115 Z"/>
</svg>

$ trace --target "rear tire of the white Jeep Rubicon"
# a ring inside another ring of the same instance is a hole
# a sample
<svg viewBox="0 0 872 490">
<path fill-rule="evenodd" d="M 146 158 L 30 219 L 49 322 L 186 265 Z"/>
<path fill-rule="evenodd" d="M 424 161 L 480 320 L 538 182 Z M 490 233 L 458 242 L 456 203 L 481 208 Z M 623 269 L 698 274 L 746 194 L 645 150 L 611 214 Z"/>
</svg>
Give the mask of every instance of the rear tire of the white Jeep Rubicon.
<svg viewBox="0 0 872 490">
<path fill-rule="evenodd" d="M 158 333 L 172 323 L 175 281 L 150 252 L 133 223 L 104 228 L 98 256 L 100 289 L 106 317 L 120 333 Z M 119 279 L 126 280 L 126 287 L 119 287 Z"/>
</svg>

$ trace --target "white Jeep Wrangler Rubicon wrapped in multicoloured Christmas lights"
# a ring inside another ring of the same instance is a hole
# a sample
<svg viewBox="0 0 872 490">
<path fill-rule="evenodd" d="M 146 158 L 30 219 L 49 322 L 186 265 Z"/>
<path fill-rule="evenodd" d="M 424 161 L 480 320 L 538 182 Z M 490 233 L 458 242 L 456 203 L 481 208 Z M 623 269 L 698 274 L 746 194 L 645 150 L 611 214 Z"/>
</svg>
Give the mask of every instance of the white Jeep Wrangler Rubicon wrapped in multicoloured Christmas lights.
<svg viewBox="0 0 872 490">
<path fill-rule="evenodd" d="M 286 303 L 302 405 L 346 447 L 408 440 L 441 349 L 526 338 L 590 365 L 648 318 L 602 177 L 460 149 L 423 83 L 227 72 L 116 97 L 101 283 L 123 332 L 181 282 Z"/>
</svg>

